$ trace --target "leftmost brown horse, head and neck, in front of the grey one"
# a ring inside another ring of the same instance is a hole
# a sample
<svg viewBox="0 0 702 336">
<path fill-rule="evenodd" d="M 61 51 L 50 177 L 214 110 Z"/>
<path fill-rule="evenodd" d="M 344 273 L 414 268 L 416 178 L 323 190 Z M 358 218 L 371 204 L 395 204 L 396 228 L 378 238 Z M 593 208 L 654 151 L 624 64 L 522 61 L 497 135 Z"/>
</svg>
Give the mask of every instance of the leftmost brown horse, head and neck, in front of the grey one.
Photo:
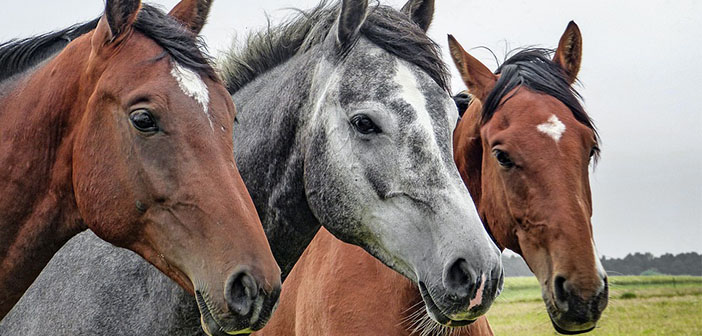
<svg viewBox="0 0 702 336">
<path fill-rule="evenodd" d="M 280 268 L 197 39 L 210 4 L 108 0 L 98 19 L 0 46 L 0 319 L 90 229 L 194 293 L 213 334 L 268 320 Z"/>
</svg>

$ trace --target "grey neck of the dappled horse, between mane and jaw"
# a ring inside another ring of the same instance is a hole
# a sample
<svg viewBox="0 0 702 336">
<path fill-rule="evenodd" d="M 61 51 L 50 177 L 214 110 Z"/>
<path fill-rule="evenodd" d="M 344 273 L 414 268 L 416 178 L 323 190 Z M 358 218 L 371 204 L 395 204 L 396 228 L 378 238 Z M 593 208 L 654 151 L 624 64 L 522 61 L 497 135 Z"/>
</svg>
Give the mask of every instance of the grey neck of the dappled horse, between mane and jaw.
<svg viewBox="0 0 702 336">
<path fill-rule="evenodd" d="M 239 112 L 239 171 L 261 217 L 283 279 L 320 228 L 304 185 L 305 120 L 313 53 L 295 56 L 232 96 Z"/>
</svg>

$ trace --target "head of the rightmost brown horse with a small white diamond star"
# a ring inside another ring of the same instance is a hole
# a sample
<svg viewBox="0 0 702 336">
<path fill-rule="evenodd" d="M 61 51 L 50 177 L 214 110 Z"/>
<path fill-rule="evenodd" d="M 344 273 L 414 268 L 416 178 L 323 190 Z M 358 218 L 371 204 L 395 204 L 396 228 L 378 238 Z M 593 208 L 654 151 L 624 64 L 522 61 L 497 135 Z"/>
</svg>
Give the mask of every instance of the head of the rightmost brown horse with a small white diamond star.
<svg viewBox="0 0 702 336">
<path fill-rule="evenodd" d="M 595 252 L 588 177 L 599 153 L 572 88 L 582 38 L 568 25 L 553 59 L 525 50 L 490 72 L 449 36 L 474 102 L 455 131 L 455 159 L 491 235 L 521 254 L 541 283 L 554 327 L 592 330 L 607 305 Z"/>
</svg>

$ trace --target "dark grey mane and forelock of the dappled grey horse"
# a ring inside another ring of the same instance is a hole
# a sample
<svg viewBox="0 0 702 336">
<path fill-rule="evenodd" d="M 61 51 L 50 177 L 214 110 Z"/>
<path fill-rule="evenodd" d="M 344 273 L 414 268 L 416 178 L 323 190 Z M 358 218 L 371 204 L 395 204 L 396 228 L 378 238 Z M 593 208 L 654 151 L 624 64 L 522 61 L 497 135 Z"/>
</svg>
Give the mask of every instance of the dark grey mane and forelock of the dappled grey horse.
<svg viewBox="0 0 702 336">
<path fill-rule="evenodd" d="M 229 92 L 238 91 L 264 72 L 321 44 L 334 27 L 340 7 L 322 1 L 309 11 L 296 9 L 297 15 L 276 27 L 269 22 L 266 30 L 251 33 L 244 45 L 238 51 L 232 48 L 220 64 Z M 389 6 L 372 6 L 359 35 L 417 65 L 450 91 L 449 73 L 439 46 L 408 15 Z"/>
</svg>

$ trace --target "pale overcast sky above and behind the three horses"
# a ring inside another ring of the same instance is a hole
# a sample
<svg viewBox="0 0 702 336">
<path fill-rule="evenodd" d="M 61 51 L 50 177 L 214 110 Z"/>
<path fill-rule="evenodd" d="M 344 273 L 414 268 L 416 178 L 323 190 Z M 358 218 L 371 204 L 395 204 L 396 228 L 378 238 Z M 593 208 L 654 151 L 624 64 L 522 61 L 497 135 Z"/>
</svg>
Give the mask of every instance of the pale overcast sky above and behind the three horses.
<svg viewBox="0 0 702 336">
<path fill-rule="evenodd" d="M 602 139 L 591 175 L 595 241 L 601 254 L 702 252 L 702 1 L 437 0 L 430 35 L 451 33 L 466 48 L 553 48 L 570 20 L 580 26 L 587 111 Z M 168 9 L 175 0 L 156 1 Z M 217 55 L 245 36 L 316 0 L 217 0 L 205 36 Z M 381 0 L 397 8 L 402 0 Z M 97 17 L 100 0 L 6 1 L 0 41 Z M 495 69 L 492 56 L 471 53 Z M 444 50 L 446 61 L 450 58 Z M 463 89 L 453 70 L 453 89 Z"/>
</svg>

